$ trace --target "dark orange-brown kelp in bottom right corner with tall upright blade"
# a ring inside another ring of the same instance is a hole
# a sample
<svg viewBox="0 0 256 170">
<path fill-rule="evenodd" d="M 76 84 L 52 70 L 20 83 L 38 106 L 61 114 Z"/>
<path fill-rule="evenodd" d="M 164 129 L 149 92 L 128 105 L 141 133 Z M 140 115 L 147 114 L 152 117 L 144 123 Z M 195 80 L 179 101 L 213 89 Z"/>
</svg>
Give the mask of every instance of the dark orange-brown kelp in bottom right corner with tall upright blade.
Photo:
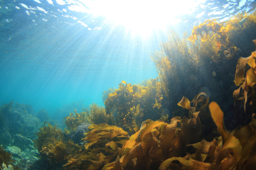
<svg viewBox="0 0 256 170">
<path fill-rule="evenodd" d="M 184 157 L 163 161 L 159 170 L 250 170 L 256 161 L 256 121 L 229 133 L 223 122 L 223 111 L 216 102 L 209 105 L 212 119 L 221 134 L 211 142 L 204 139 L 192 144 L 196 149 Z"/>
</svg>

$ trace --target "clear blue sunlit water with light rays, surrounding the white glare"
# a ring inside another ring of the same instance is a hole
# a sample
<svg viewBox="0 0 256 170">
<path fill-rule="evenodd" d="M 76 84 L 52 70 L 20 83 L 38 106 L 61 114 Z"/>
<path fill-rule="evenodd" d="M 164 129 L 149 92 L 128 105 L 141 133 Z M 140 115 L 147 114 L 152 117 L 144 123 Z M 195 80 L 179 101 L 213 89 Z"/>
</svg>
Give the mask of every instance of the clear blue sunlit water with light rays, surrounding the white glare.
<svg viewBox="0 0 256 170">
<path fill-rule="evenodd" d="M 50 115 L 72 102 L 104 105 L 102 92 L 122 80 L 137 84 L 157 76 L 150 53 L 167 40 L 169 29 L 189 35 L 206 19 L 225 21 L 256 7 L 253 0 L 205 0 L 177 16 L 179 23 L 142 37 L 104 16 L 70 10 L 86 2 L 0 1 L 0 104 L 13 100 Z"/>
</svg>

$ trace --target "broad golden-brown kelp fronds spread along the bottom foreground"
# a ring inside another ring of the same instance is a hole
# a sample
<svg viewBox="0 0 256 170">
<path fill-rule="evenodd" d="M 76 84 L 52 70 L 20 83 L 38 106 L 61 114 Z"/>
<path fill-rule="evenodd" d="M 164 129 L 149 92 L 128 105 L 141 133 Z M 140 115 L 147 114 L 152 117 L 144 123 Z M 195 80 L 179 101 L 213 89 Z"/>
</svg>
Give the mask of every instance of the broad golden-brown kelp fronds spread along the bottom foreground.
<svg viewBox="0 0 256 170">
<path fill-rule="evenodd" d="M 202 101 L 200 96 L 196 95 L 196 101 Z M 201 121 L 196 113 L 192 119 L 174 117 L 170 123 L 148 119 L 131 136 L 120 127 L 105 123 L 91 125 L 82 139 L 84 145 L 75 148 L 71 141 L 58 140 L 41 152 L 50 159 L 52 156 L 55 160 L 67 160 L 66 170 L 239 170 L 254 167 L 256 120 L 230 133 L 225 129 L 219 105 L 211 102 L 209 110 L 221 135 L 211 142 L 201 140 Z M 50 127 L 48 131 L 53 129 Z"/>
</svg>

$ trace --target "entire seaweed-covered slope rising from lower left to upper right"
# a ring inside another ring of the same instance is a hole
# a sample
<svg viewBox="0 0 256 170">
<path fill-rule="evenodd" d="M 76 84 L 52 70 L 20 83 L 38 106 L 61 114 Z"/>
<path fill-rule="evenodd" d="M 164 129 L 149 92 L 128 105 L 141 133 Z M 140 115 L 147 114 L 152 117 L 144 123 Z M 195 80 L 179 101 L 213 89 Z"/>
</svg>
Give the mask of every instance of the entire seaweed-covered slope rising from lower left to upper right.
<svg viewBox="0 0 256 170">
<path fill-rule="evenodd" d="M 64 129 L 46 121 L 33 134 L 37 161 L 63 170 L 255 169 L 256 13 L 206 20 L 189 36 L 170 31 L 151 58 L 157 78 L 121 81 L 103 92 L 104 107 L 74 108 Z M 0 147 L 3 165 L 15 168 Z"/>
</svg>

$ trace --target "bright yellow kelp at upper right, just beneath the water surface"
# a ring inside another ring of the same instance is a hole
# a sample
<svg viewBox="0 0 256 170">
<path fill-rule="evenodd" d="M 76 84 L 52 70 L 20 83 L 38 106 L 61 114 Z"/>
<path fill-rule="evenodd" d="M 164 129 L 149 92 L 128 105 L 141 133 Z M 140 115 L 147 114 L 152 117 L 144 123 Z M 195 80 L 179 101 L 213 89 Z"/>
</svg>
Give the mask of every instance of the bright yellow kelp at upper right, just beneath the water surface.
<svg viewBox="0 0 256 170">
<path fill-rule="evenodd" d="M 193 27 L 188 40 L 197 45 L 199 45 L 198 42 L 211 41 L 215 44 L 215 52 L 219 57 L 224 53 L 223 57 L 232 59 L 240 49 L 247 52 L 252 47 L 247 46 L 247 40 L 254 34 L 255 23 L 255 12 L 252 14 L 239 13 L 225 22 L 219 22 L 216 19 L 206 20 L 199 26 Z"/>
</svg>

